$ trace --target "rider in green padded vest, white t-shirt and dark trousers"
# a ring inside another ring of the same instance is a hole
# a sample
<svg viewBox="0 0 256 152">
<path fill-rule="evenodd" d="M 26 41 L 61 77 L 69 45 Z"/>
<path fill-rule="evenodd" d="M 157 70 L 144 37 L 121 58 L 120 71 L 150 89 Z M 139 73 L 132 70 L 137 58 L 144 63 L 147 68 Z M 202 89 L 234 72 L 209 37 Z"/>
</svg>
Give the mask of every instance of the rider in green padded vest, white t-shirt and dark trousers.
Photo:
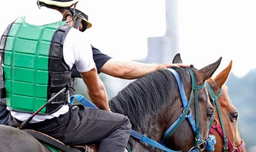
<svg viewBox="0 0 256 152">
<path fill-rule="evenodd" d="M 46 105 L 23 128 L 41 131 L 66 145 L 99 142 L 98 151 L 124 151 L 130 121 L 110 111 L 90 43 L 62 21 L 67 10 L 71 20 L 84 21 L 76 9 L 71 9 L 78 1 L 38 0 L 38 12 L 20 17 L 7 27 L 0 43 L 1 102 L 6 99 L 12 126 L 20 126 Z M 69 105 L 74 64 L 91 101 L 100 109 Z"/>
</svg>

